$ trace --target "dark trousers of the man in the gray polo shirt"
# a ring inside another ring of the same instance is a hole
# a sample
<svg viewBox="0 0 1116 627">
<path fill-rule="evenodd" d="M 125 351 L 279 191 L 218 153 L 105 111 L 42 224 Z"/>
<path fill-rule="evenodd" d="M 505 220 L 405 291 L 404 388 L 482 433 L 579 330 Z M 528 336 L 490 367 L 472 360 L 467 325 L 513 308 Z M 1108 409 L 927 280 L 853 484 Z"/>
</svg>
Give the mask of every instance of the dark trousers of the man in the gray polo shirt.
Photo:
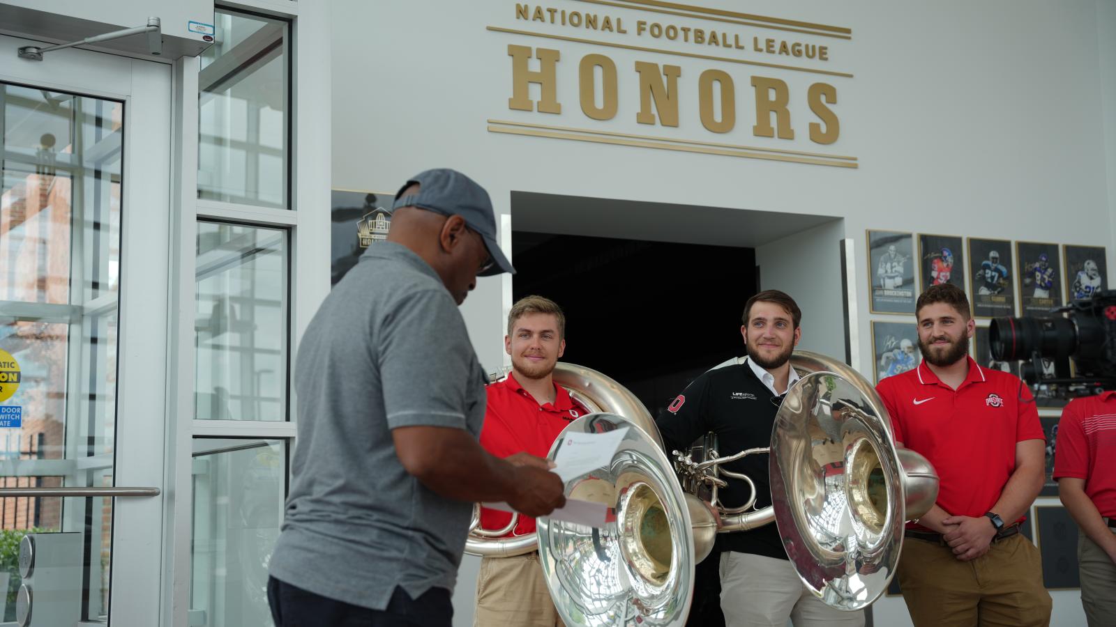
<svg viewBox="0 0 1116 627">
<path fill-rule="evenodd" d="M 387 609 L 368 609 L 268 579 L 268 604 L 276 627 L 450 627 L 453 605 L 445 588 L 412 599 L 396 586 Z"/>
</svg>

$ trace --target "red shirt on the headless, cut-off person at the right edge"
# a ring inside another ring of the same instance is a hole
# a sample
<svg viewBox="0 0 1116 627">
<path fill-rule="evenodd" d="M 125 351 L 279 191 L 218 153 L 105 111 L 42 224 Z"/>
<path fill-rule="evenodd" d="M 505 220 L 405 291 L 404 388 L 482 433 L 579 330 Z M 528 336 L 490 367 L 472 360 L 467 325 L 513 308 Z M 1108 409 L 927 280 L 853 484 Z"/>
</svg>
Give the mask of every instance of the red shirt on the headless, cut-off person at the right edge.
<svg viewBox="0 0 1116 627">
<path fill-rule="evenodd" d="M 1054 478 L 1084 479 L 1100 515 L 1116 518 L 1116 392 L 1070 401 L 1055 443 Z"/>
</svg>

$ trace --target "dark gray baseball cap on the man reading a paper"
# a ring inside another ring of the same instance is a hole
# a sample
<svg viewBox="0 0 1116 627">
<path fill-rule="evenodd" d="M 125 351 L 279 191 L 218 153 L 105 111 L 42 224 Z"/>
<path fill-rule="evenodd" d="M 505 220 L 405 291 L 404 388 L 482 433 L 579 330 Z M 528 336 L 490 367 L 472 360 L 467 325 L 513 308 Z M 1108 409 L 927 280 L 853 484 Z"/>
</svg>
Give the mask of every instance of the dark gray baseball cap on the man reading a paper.
<svg viewBox="0 0 1116 627">
<path fill-rule="evenodd" d="M 415 183 L 419 183 L 419 193 L 403 196 L 403 192 Z M 392 211 L 401 206 L 417 206 L 442 215 L 460 215 L 470 229 L 480 233 L 484 240 L 484 248 L 492 255 L 492 267 L 478 276 L 516 273 L 516 269 L 496 243 L 496 214 L 492 212 L 492 201 L 484 187 L 472 179 L 446 167 L 420 172 L 395 194 Z"/>
</svg>

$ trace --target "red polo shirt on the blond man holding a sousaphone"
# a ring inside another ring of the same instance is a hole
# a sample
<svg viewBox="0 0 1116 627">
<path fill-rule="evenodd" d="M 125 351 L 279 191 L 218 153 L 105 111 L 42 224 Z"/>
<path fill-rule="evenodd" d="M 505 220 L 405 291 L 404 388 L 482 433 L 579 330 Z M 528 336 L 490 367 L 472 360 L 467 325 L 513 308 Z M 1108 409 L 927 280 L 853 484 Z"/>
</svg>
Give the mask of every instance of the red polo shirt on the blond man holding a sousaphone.
<svg viewBox="0 0 1116 627">
<path fill-rule="evenodd" d="M 507 457 L 520 452 L 546 457 L 558 434 L 575 418 L 589 413 L 574 402 L 569 393 L 555 385 L 555 402 L 539 405 L 523 386 L 516 380 L 514 373 L 508 378 L 489 385 L 488 408 L 484 426 L 481 428 L 481 446 L 497 457 Z M 481 508 L 481 527 L 503 529 L 511 521 L 511 514 Z M 535 519 L 519 517 L 513 533 L 523 536 L 535 532 Z"/>
</svg>

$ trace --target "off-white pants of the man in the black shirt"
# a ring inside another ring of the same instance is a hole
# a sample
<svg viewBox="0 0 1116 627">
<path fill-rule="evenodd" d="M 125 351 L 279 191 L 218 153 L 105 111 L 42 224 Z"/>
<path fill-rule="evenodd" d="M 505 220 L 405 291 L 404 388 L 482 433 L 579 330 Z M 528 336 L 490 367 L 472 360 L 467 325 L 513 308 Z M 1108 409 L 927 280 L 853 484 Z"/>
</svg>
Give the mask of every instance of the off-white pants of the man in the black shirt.
<svg viewBox="0 0 1116 627">
<path fill-rule="evenodd" d="M 863 627 L 864 611 L 834 609 L 802 586 L 790 561 L 721 553 L 721 610 L 725 627 Z"/>
</svg>

